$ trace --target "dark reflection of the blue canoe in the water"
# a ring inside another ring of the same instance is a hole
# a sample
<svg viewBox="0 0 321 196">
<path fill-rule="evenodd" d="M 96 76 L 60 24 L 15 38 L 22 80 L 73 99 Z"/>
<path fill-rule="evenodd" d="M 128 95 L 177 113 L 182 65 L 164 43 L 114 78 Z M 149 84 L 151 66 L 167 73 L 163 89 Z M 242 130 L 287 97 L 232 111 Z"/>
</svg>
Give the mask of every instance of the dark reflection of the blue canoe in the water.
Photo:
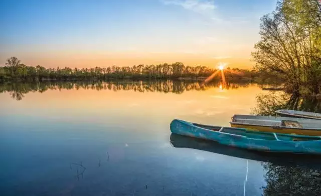
<svg viewBox="0 0 321 196">
<path fill-rule="evenodd" d="M 271 162 L 274 165 L 280 166 L 303 166 L 321 169 L 321 159 L 318 155 L 258 152 L 226 146 L 215 141 L 193 138 L 175 133 L 171 134 L 170 140 L 172 145 L 176 148 L 203 150 L 237 158 Z"/>
</svg>

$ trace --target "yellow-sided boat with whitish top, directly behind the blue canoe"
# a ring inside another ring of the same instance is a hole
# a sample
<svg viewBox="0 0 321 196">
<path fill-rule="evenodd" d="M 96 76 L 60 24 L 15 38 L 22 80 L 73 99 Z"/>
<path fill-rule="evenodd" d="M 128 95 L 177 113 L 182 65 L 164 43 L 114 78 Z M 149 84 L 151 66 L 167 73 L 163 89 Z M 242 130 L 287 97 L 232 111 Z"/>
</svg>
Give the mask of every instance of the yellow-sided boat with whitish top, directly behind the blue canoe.
<svg viewBox="0 0 321 196">
<path fill-rule="evenodd" d="M 275 116 L 234 115 L 231 127 L 285 134 L 321 136 L 321 121 Z"/>
</svg>

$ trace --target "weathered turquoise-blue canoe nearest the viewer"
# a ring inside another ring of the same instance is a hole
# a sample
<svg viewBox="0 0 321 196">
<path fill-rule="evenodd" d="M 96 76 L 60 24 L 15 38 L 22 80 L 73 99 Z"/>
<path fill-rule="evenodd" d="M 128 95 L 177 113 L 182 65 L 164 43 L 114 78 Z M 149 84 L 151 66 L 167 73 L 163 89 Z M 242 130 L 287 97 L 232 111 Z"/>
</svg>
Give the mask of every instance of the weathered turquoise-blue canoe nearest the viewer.
<svg viewBox="0 0 321 196">
<path fill-rule="evenodd" d="M 217 141 L 239 148 L 303 154 L 321 154 L 321 137 L 290 135 L 244 128 L 220 127 L 191 123 L 174 119 L 170 125 L 172 133 Z"/>
</svg>

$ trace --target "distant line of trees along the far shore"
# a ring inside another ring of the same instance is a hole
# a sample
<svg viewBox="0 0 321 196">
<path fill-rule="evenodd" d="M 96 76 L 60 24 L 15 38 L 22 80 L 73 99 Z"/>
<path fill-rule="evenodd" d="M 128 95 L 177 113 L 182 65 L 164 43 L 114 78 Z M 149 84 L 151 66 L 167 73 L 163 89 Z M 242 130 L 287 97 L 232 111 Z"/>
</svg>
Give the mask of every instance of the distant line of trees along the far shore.
<svg viewBox="0 0 321 196">
<path fill-rule="evenodd" d="M 205 66 L 185 66 L 183 63 L 160 65 L 134 65 L 132 67 L 95 67 L 71 69 L 45 68 L 40 65 L 27 66 L 16 57 L 7 60 L 4 67 L 0 67 L 0 81 L 44 81 L 44 80 L 110 80 L 110 79 L 204 79 L 212 75 L 217 69 Z M 228 81 L 253 81 L 260 77 L 255 70 L 227 68 L 224 70 Z M 220 74 L 214 80 L 219 80 Z M 262 77 L 261 77 L 262 78 Z"/>
</svg>

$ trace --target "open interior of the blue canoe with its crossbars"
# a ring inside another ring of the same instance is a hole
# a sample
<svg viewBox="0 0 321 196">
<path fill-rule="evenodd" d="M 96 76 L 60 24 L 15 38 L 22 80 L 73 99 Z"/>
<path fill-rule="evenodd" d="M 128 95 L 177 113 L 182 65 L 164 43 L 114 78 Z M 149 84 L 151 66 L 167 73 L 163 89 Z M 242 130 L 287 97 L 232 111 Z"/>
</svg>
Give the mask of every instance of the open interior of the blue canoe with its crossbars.
<svg viewBox="0 0 321 196">
<path fill-rule="evenodd" d="M 209 126 L 193 123 L 193 125 L 209 129 L 211 131 L 217 131 L 222 133 L 229 133 L 234 135 L 240 135 L 252 139 L 261 139 L 261 140 L 282 140 L 282 141 L 316 141 L 321 140 L 321 137 L 313 136 L 302 136 L 302 135 L 288 135 L 282 133 L 270 133 L 270 132 L 258 132 L 250 131 L 242 128 L 232 128 L 232 127 L 218 127 L 218 126 Z"/>
</svg>

